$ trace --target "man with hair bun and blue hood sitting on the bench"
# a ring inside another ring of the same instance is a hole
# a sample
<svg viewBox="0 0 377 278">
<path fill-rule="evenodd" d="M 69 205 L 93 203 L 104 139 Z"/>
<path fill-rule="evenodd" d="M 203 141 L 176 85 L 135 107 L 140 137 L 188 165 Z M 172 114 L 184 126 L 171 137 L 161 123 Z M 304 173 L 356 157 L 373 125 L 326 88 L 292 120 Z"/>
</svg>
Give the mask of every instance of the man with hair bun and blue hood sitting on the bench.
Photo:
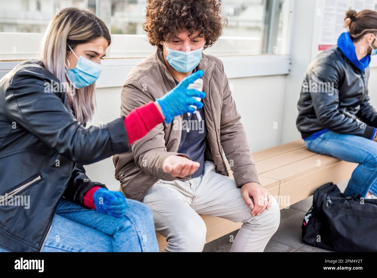
<svg viewBox="0 0 377 278">
<path fill-rule="evenodd" d="M 348 32 L 308 67 L 297 128 L 309 150 L 358 163 L 344 192 L 377 195 L 377 112 L 369 103 L 371 56 L 377 54 L 377 12 L 347 11 Z"/>
</svg>

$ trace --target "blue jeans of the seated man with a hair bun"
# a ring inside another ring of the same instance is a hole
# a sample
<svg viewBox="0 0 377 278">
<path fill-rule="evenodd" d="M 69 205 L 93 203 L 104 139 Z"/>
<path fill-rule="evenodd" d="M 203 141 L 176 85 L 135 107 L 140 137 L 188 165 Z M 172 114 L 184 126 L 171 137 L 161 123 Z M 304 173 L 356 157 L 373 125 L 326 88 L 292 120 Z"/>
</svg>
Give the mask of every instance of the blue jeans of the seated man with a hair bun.
<svg viewBox="0 0 377 278">
<path fill-rule="evenodd" d="M 364 137 L 327 131 L 305 145 L 315 153 L 359 163 L 353 171 L 344 195 L 365 197 L 368 191 L 377 196 L 377 142 Z"/>
</svg>

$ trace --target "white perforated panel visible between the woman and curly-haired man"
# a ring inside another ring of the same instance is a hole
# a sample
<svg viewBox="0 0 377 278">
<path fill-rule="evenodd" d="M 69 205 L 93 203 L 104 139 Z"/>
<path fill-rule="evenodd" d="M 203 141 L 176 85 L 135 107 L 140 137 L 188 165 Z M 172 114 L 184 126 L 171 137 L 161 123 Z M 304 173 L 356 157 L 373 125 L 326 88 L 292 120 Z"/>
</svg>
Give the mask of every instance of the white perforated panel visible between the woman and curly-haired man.
<svg viewBox="0 0 377 278">
<path fill-rule="evenodd" d="M 87 125 L 88 127 L 91 125 L 98 127 L 101 124 L 107 124 L 120 117 L 121 90 L 121 87 L 97 89 L 97 107 L 92 121 Z M 114 178 L 115 167 L 111 157 L 93 164 L 85 165 L 84 168 L 87 176 L 91 180 L 105 184 L 110 190 L 119 190 L 120 183 Z"/>
</svg>

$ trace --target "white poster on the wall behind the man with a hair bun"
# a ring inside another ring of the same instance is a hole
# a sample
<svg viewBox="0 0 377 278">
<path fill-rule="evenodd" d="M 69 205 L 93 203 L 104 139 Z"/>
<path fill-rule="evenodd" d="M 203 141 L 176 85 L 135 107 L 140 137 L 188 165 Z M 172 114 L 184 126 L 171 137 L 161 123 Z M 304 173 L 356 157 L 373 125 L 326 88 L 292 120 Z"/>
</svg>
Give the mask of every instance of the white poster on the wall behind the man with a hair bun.
<svg viewBox="0 0 377 278">
<path fill-rule="evenodd" d="M 347 29 L 344 27 L 344 17 L 349 9 L 357 12 L 363 9 L 375 10 L 375 0 L 323 0 L 320 9 L 320 33 L 318 50 L 326 50 L 336 45 L 338 37 Z"/>
</svg>

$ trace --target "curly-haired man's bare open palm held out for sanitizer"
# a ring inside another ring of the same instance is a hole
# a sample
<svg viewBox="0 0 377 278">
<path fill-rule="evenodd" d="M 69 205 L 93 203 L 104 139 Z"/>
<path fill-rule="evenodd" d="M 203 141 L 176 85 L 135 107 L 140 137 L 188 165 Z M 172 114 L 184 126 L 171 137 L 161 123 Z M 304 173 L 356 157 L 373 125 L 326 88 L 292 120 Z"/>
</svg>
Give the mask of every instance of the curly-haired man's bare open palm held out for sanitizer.
<svg viewBox="0 0 377 278">
<path fill-rule="evenodd" d="M 191 161 L 183 156 L 171 155 L 165 159 L 162 170 L 172 177 L 184 178 L 185 176 L 192 175 L 198 170 L 199 166 L 199 162 Z"/>
</svg>

